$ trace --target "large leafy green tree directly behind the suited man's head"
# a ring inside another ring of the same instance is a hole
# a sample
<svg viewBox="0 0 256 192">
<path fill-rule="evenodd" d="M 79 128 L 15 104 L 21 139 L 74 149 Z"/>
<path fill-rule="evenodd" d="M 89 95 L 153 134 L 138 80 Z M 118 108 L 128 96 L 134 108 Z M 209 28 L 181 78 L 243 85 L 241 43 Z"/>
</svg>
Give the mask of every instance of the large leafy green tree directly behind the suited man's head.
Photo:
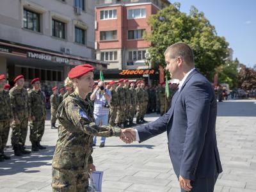
<svg viewBox="0 0 256 192">
<path fill-rule="evenodd" d="M 170 4 L 148 20 L 152 27 L 152 32 L 145 35 L 145 39 L 152 45 L 148 50 L 148 61 L 165 68 L 163 54 L 166 48 L 177 42 L 184 42 L 194 51 L 196 68 L 212 81 L 215 68 L 225 63 L 228 43 L 225 38 L 217 35 L 204 13 L 192 7 L 189 15 L 186 15 L 179 8 L 179 3 Z"/>
</svg>

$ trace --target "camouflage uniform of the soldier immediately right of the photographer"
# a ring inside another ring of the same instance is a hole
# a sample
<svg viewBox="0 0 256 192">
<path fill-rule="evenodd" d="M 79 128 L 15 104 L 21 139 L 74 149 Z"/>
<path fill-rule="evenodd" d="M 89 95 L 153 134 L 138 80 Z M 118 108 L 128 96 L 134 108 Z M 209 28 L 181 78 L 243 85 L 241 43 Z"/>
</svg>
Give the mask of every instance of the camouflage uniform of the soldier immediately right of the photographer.
<svg viewBox="0 0 256 192">
<path fill-rule="evenodd" d="M 111 102 L 109 104 L 109 125 L 114 126 L 118 106 L 118 95 L 113 87 L 111 87 L 109 90 L 112 96 Z"/>
</svg>

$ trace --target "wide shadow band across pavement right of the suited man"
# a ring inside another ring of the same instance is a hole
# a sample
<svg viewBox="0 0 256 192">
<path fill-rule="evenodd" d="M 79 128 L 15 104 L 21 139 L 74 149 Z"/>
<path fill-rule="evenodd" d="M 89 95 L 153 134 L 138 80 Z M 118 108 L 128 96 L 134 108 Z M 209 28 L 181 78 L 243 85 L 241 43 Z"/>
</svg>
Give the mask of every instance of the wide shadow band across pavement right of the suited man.
<svg viewBox="0 0 256 192">
<path fill-rule="evenodd" d="M 256 100 L 254 102 L 218 102 L 217 116 L 256 116 Z"/>
</svg>

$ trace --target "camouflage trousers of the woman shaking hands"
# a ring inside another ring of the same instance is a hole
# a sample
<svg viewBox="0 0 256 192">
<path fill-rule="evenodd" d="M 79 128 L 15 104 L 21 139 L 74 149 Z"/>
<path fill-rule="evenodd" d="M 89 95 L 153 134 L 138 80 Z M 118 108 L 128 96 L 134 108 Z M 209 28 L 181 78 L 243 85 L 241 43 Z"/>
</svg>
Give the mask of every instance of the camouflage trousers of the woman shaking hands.
<svg viewBox="0 0 256 192">
<path fill-rule="evenodd" d="M 88 171 L 63 170 L 52 168 L 52 191 L 53 192 L 87 192 Z"/>
</svg>

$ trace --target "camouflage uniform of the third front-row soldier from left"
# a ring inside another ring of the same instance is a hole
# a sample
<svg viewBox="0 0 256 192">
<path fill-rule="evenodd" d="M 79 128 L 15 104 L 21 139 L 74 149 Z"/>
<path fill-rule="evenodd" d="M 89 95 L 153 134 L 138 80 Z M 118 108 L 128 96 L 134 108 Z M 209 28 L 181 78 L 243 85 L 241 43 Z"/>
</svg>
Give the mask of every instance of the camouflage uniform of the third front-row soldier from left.
<svg viewBox="0 0 256 192">
<path fill-rule="evenodd" d="M 35 116 L 35 120 L 29 123 L 30 126 L 30 136 L 29 139 L 31 143 L 39 143 L 42 140 L 44 134 L 44 125 L 46 118 L 46 109 L 44 102 L 44 95 L 41 91 L 36 92 L 35 90 L 30 90 L 29 104 L 31 106 L 31 116 Z"/>
</svg>

